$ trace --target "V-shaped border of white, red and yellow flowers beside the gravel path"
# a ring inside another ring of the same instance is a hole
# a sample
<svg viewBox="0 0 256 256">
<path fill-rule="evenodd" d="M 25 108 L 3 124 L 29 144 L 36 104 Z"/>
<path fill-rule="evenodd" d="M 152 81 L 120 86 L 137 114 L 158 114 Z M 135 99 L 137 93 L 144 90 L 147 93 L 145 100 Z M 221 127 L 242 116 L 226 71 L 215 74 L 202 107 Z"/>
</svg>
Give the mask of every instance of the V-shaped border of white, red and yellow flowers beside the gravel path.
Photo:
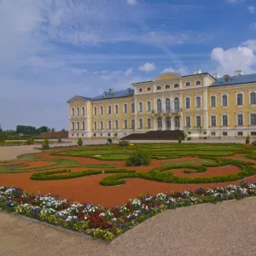
<svg viewBox="0 0 256 256">
<path fill-rule="evenodd" d="M 216 189 L 197 189 L 178 193 L 140 195 L 112 209 L 61 199 L 57 195 L 30 194 L 20 188 L 0 187 L 0 210 L 37 218 L 49 224 L 75 230 L 93 238 L 113 238 L 166 209 L 240 200 L 256 195 L 256 182 Z"/>
</svg>

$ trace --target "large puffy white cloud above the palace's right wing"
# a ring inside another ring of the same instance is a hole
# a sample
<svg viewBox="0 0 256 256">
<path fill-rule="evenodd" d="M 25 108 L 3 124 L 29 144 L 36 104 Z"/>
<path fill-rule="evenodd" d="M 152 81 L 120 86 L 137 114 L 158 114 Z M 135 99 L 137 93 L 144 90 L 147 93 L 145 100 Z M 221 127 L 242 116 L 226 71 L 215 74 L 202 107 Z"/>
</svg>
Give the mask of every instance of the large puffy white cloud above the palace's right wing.
<svg viewBox="0 0 256 256">
<path fill-rule="evenodd" d="M 221 74 L 234 75 L 236 70 L 242 70 L 244 73 L 255 73 L 256 72 L 256 52 L 255 45 L 252 41 L 242 44 L 236 48 L 212 49 L 212 61 L 217 62 L 218 67 L 215 72 Z M 247 46 L 243 46 L 243 45 Z M 253 47 L 251 47 L 253 46 Z"/>
</svg>

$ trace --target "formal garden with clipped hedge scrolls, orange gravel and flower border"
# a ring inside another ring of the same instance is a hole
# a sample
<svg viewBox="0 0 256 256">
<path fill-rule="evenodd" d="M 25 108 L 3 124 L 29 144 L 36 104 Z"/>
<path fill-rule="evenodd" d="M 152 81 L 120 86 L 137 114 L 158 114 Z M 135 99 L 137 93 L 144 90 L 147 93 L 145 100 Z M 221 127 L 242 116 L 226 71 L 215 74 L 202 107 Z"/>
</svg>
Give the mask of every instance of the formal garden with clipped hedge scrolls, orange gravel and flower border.
<svg viewBox="0 0 256 256">
<path fill-rule="evenodd" d="M 112 241 L 166 209 L 255 196 L 255 181 L 253 145 L 45 147 L 0 162 L 0 208 Z"/>
</svg>

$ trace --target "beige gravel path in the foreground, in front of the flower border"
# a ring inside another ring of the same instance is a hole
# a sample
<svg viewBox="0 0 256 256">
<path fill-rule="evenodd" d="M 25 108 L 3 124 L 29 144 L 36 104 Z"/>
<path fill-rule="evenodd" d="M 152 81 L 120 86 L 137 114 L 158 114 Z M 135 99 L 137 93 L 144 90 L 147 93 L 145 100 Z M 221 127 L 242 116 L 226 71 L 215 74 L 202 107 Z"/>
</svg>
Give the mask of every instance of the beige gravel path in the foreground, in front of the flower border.
<svg viewBox="0 0 256 256">
<path fill-rule="evenodd" d="M 0 212 L 0 256 L 254 256 L 256 198 L 162 212 L 109 245 Z"/>
</svg>

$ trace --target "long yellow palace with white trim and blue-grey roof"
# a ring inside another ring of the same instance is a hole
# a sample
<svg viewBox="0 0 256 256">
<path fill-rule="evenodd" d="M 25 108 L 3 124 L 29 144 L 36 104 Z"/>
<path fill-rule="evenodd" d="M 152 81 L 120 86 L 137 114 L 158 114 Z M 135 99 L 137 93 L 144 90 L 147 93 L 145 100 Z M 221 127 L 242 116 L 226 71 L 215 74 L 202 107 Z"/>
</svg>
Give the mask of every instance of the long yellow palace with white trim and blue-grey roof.
<svg viewBox="0 0 256 256">
<path fill-rule="evenodd" d="M 102 96 L 74 96 L 68 103 L 69 137 L 125 137 L 182 130 L 190 137 L 256 136 L 256 73 L 219 78 L 196 70 L 109 89 Z"/>
</svg>

